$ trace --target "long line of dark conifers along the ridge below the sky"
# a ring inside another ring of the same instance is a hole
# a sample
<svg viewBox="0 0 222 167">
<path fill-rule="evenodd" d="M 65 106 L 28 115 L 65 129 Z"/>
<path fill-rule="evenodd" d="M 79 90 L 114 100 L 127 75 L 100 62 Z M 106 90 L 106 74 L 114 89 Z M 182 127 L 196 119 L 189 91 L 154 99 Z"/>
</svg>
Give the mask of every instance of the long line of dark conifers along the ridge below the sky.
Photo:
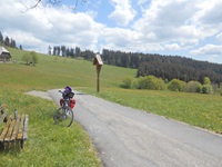
<svg viewBox="0 0 222 167">
<path fill-rule="evenodd" d="M 53 47 L 53 51 L 51 51 L 49 46 L 49 55 L 93 60 L 95 53 L 90 50 L 81 51 L 79 47 L 73 49 L 64 46 Z M 151 75 L 165 81 L 180 79 L 185 82 L 196 80 L 204 84 L 204 78 L 209 77 L 212 84 L 222 82 L 222 65 L 219 63 L 198 61 L 180 56 L 124 52 L 109 49 L 102 50 L 101 58 L 107 65 L 138 69 L 137 78 Z"/>
</svg>

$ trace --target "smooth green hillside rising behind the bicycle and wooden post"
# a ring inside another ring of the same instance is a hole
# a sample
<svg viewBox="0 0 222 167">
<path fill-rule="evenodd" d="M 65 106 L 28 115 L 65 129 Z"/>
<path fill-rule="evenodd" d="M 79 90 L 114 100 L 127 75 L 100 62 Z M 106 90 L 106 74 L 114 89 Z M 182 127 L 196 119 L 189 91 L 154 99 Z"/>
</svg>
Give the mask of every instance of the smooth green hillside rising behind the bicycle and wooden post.
<svg viewBox="0 0 222 167">
<path fill-rule="evenodd" d="M 38 53 L 39 62 L 26 66 L 21 61 L 28 51 L 7 48 L 14 63 L 1 66 L 1 86 L 16 85 L 18 89 L 32 85 L 34 89 L 53 89 L 70 85 L 77 87 L 97 87 L 97 70 L 89 60 Z M 8 71 L 10 77 L 8 77 Z M 19 75 L 18 75 L 19 73 Z M 135 69 L 103 65 L 100 73 L 101 87 L 119 87 L 125 76 L 135 77 Z"/>
</svg>

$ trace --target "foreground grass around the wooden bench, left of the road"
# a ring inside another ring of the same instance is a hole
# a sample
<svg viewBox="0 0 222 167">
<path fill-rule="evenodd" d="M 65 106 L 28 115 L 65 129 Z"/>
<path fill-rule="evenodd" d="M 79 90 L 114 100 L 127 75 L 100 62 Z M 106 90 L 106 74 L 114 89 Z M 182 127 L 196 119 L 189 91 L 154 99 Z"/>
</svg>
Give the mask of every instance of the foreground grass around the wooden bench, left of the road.
<svg viewBox="0 0 222 167">
<path fill-rule="evenodd" d="M 13 109 L 29 115 L 24 148 L 1 150 L 0 166 L 101 166 L 97 150 L 79 124 L 69 128 L 53 124 L 57 109 L 53 101 L 11 89 L 0 89 L 0 101 L 6 104 L 8 115 L 13 115 Z"/>
</svg>

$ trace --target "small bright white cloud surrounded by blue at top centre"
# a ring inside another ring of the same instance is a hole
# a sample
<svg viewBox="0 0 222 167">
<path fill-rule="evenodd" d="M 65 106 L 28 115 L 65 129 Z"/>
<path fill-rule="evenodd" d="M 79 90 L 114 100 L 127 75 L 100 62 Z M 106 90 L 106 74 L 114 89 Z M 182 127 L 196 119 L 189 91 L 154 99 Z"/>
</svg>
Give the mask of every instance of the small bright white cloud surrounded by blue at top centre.
<svg viewBox="0 0 222 167">
<path fill-rule="evenodd" d="M 128 26 L 135 17 L 135 10 L 132 9 L 130 0 L 111 0 L 114 11 L 109 16 L 119 26 Z"/>
</svg>

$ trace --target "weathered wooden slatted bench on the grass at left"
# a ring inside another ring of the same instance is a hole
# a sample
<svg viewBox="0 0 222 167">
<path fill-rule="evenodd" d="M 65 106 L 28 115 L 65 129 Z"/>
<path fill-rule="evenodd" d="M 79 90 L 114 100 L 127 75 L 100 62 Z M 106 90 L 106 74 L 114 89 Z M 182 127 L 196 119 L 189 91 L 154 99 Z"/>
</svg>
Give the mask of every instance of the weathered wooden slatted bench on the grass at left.
<svg viewBox="0 0 222 167">
<path fill-rule="evenodd" d="M 14 115 L 7 118 L 7 114 L 1 109 L 0 122 L 7 121 L 0 132 L 0 144 L 3 149 L 19 145 L 23 148 L 24 140 L 28 139 L 28 115 Z M 7 120 L 6 120 L 7 119 Z"/>
</svg>

